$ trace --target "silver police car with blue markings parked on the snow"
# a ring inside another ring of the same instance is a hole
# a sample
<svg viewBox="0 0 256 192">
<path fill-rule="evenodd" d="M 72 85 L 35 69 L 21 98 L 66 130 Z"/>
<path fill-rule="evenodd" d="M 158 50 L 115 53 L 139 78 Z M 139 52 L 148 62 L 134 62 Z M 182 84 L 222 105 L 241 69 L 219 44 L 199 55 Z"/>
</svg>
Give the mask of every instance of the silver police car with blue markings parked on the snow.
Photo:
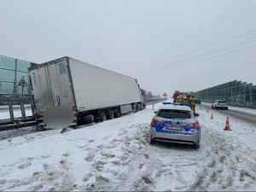
<svg viewBox="0 0 256 192">
<path fill-rule="evenodd" d="M 185 143 L 200 148 L 201 125 L 188 106 L 163 102 L 150 124 L 150 142 Z"/>
</svg>

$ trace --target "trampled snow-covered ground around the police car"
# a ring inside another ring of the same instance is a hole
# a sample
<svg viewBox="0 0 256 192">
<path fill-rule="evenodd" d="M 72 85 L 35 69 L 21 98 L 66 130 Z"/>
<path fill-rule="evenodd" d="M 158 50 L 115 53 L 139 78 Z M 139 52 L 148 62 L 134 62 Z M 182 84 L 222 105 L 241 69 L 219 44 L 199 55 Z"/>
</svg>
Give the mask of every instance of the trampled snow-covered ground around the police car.
<svg viewBox="0 0 256 192">
<path fill-rule="evenodd" d="M 160 106 L 154 104 L 154 110 Z M 3 139 L 0 191 L 255 191 L 255 125 L 230 117 L 232 131 L 224 131 L 220 110 L 207 113 L 197 106 L 196 112 L 202 129 L 198 150 L 149 144 L 152 105 L 62 134 L 52 130 Z"/>
</svg>

